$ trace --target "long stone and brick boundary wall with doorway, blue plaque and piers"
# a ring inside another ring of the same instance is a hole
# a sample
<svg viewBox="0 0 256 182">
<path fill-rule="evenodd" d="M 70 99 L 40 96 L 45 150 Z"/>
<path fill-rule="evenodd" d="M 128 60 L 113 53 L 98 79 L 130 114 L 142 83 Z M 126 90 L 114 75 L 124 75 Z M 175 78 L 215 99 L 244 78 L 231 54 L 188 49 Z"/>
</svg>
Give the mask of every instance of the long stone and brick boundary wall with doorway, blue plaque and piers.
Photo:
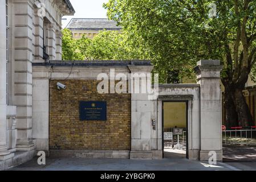
<svg viewBox="0 0 256 182">
<path fill-rule="evenodd" d="M 208 160 L 214 151 L 222 160 L 220 61 L 198 61 L 197 84 L 151 88 L 152 69 L 150 61 L 34 63 L 36 150 L 50 156 L 161 159 L 168 156 L 164 139 L 172 133 L 187 158 Z"/>
</svg>

